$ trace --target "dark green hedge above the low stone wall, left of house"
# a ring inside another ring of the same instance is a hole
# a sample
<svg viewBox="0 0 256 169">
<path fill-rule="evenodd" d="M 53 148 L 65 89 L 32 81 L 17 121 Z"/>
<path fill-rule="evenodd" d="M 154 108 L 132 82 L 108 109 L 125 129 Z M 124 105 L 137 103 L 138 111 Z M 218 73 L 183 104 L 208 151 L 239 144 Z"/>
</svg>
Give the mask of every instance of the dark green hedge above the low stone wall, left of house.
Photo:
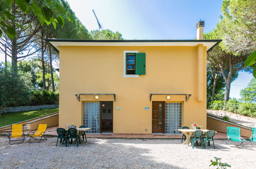
<svg viewBox="0 0 256 169">
<path fill-rule="evenodd" d="M 32 91 L 30 105 L 58 104 L 58 93 L 51 91 Z"/>
</svg>

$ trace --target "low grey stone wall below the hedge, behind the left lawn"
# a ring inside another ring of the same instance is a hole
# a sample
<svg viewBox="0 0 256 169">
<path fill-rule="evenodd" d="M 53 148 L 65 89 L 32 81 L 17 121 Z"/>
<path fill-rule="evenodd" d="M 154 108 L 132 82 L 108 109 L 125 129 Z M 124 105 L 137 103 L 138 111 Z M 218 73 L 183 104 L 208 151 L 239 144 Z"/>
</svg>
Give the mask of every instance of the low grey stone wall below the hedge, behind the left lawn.
<svg viewBox="0 0 256 169">
<path fill-rule="evenodd" d="M 23 111 L 33 111 L 33 110 L 52 109 L 52 108 L 58 108 L 58 104 L 6 107 L 3 109 L 2 113 L 23 112 Z"/>
</svg>

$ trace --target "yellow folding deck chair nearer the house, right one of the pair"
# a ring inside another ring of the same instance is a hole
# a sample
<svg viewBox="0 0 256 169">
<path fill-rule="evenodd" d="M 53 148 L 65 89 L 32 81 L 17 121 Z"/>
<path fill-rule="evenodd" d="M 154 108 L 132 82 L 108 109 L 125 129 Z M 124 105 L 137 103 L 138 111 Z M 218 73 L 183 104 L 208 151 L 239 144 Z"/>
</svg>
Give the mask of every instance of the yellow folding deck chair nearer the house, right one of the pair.
<svg viewBox="0 0 256 169">
<path fill-rule="evenodd" d="M 30 139 L 39 140 L 38 142 L 29 142 L 29 143 L 40 143 L 41 140 L 47 140 L 47 138 L 44 136 L 47 129 L 47 124 L 38 124 L 36 131 L 29 132 L 28 135 L 30 136 Z M 33 133 L 30 135 L 30 133 Z M 38 137 L 38 139 L 36 139 Z"/>
</svg>

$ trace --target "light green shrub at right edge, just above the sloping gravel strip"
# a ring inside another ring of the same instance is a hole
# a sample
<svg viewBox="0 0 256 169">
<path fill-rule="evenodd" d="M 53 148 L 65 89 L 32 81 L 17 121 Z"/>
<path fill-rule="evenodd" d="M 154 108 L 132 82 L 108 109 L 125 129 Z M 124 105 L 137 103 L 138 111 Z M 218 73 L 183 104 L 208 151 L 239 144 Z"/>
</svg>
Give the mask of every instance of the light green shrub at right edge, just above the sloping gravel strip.
<svg viewBox="0 0 256 169">
<path fill-rule="evenodd" d="M 245 116 L 256 117 L 256 104 L 250 102 L 241 102 L 238 108 L 238 113 Z"/>
</svg>

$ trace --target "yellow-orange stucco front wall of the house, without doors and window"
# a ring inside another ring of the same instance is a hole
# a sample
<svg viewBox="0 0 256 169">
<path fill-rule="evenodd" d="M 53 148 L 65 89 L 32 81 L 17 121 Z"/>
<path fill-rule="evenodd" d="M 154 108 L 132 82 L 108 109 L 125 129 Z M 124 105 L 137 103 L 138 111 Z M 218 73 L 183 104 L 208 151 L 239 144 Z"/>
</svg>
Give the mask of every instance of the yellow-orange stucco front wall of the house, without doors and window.
<svg viewBox="0 0 256 169">
<path fill-rule="evenodd" d="M 60 50 L 60 127 L 81 125 L 83 101 L 113 101 L 113 96 L 76 93 L 115 93 L 113 133 L 152 132 L 152 101 L 183 103 L 182 125 L 197 122 L 206 128 L 206 47 L 69 47 Z M 124 51 L 146 53 L 146 75 L 124 77 Z M 192 94 L 152 96 L 150 93 Z M 200 101 L 198 101 L 200 100 Z M 116 110 L 121 107 L 121 110 Z M 144 110 L 149 107 L 149 110 Z"/>
</svg>

